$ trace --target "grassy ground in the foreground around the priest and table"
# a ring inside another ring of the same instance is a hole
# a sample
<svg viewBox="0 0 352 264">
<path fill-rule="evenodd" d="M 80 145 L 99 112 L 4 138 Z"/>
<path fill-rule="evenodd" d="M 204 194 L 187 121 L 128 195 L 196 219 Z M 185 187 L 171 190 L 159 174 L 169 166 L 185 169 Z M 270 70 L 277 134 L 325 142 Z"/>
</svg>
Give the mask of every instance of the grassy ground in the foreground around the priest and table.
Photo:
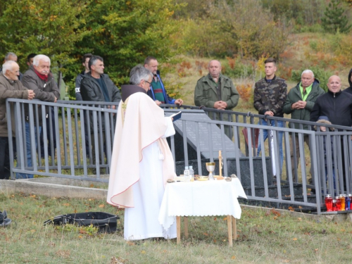
<svg viewBox="0 0 352 264">
<path fill-rule="evenodd" d="M 242 208 L 238 239 L 227 245 L 224 216 L 189 218 L 189 239 L 123 239 L 123 210 L 94 199 L 0 194 L 13 220 L 0 228 L 0 263 L 350 263 L 351 222 L 293 217 L 289 212 Z M 43 222 L 63 213 L 120 215 L 120 232 L 87 234 Z"/>
</svg>

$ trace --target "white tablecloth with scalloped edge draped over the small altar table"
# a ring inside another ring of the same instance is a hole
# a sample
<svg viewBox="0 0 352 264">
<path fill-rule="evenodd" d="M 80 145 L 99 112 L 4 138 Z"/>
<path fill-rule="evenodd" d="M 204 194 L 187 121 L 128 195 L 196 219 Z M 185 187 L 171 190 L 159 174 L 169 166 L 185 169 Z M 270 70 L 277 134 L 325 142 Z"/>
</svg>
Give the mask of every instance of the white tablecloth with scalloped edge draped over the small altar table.
<svg viewBox="0 0 352 264">
<path fill-rule="evenodd" d="M 166 184 L 158 220 L 165 230 L 175 216 L 232 215 L 241 218 L 238 197 L 247 199 L 238 178 Z"/>
</svg>

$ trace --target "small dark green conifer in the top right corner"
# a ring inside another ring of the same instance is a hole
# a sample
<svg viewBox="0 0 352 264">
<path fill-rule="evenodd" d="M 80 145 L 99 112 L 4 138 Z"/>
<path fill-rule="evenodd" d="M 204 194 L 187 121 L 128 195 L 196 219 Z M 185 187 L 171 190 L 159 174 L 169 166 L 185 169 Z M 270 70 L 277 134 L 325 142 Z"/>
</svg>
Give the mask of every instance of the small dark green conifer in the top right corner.
<svg viewBox="0 0 352 264">
<path fill-rule="evenodd" d="M 348 33 L 351 25 L 348 25 L 348 19 L 344 13 L 345 9 L 341 7 L 341 0 L 332 0 L 322 18 L 322 27 L 325 31 L 335 34 L 337 32 Z"/>
</svg>

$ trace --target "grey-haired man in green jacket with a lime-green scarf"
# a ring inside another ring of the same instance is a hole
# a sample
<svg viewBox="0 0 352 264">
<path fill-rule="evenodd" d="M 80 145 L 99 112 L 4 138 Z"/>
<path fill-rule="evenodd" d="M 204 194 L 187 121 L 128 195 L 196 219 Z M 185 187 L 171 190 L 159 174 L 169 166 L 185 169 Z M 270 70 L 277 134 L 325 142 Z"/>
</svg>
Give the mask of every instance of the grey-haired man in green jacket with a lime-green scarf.
<svg viewBox="0 0 352 264">
<path fill-rule="evenodd" d="M 319 81 L 314 78 L 314 73 L 311 70 L 303 70 L 301 75 L 301 82 L 299 82 L 296 87 L 293 87 L 289 90 L 289 94 L 287 94 L 287 99 L 282 109 L 284 113 L 291 114 L 291 119 L 309 121 L 310 111 L 313 109 L 315 100 L 317 100 L 318 96 L 322 94 L 325 94 L 325 92 L 322 88 L 320 88 Z M 290 123 L 289 127 L 299 129 L 299 124 Z M 307 125 L 303 125 L 303 129 L 308 129 Z M 308 135 L 305 135 L 303 139 L 309 148 Z M 296 149 L 294 149 L 294 140 L 296 142 Z M 295 134 L 294 138 L 291 135 L 290 150 L 292 177 L 294 181 L 296 181 L 297 167 L 300 157 L 298 134 Z M 294 151 L 296 151 L 296 162 L 294 159 Z"/>
</svg>

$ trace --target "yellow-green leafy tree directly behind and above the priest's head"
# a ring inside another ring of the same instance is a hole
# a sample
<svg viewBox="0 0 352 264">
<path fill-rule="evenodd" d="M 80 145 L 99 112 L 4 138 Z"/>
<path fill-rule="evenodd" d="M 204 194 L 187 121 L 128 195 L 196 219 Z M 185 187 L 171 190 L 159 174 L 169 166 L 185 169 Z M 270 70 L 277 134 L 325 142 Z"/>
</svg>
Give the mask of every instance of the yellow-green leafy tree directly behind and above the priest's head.
<svg viewBox="0 0 352 264">
<path fill-rule="evenodd" d="M 87 34 L 76 43 L 73 57 L 92 52 L 101 56 L 115 84 L 128 82 L 130 69 L 146 56 L 164 61 L 172 55 L 170 34 L 178 5 L 171 0 L 92 1 L 87 6 Z M 80 63 L 77 63 L 80 64 Z M 77 75 L 78 72 L 75 73 Z M 72 80 L 74 74 L 66 75 Z"/>
</svg>

